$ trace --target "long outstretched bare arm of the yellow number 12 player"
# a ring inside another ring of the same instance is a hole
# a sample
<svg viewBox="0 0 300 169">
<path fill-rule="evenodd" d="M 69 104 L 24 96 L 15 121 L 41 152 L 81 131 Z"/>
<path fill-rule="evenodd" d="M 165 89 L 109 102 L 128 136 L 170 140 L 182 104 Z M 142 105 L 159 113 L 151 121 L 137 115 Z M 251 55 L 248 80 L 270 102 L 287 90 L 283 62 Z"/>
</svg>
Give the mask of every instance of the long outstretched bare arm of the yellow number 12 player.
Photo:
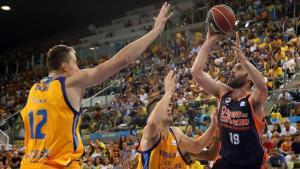
<svg viewBox="0 0 300 169">
<path fill-rule="evenodd" d="M 120 50 L 113 58 L 91 69 L 81 70 L 76 75 L 68 78 L 69 86 L 76 86 L 85 89 L 89 86 L 97 85 L 108 79 L 121 69 L 127 67 L 135 61 L 146 48 L 159 36 L 164 30 L 167 20 L 171 17 L 169 14 L 170 4 L 165 3 L 160 9 L 159 15 L 155 19 L 153 29 L 140 39 L 128 44 Z"/>
</svg>

